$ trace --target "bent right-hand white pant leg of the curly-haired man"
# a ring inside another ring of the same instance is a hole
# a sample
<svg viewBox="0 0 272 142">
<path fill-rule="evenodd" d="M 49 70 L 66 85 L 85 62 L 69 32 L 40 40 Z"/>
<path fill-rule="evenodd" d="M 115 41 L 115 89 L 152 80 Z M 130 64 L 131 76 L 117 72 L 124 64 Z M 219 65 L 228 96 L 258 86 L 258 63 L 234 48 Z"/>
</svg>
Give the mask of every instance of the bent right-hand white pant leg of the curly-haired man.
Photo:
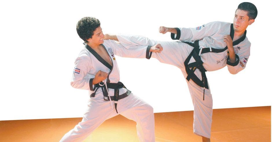
<svg viewBox="0 0 272 142">
<path fill-rule="evenodd" d="M 119 102 L 120 101 L 120 102 Z M 141 142 L 155 142 L 155 120 L 153 108 L 132 93 L 118 101 L 118 112 L 137 123 L 137 134 Z"/>
</svg>

